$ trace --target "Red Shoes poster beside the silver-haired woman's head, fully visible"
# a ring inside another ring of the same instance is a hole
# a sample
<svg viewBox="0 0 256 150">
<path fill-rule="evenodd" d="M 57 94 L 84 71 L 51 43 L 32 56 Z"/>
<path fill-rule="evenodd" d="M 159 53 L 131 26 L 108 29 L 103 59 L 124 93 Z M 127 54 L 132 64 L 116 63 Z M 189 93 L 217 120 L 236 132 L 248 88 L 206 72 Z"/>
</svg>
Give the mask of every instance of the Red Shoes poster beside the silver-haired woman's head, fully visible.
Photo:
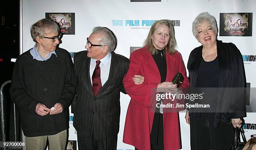
<svg viewBox="0 0 256 150">
<path fill-rule="evenodd" d="M 220 13 L 220 36 L 252 36 L 253 13 Z"/>
</svg>

